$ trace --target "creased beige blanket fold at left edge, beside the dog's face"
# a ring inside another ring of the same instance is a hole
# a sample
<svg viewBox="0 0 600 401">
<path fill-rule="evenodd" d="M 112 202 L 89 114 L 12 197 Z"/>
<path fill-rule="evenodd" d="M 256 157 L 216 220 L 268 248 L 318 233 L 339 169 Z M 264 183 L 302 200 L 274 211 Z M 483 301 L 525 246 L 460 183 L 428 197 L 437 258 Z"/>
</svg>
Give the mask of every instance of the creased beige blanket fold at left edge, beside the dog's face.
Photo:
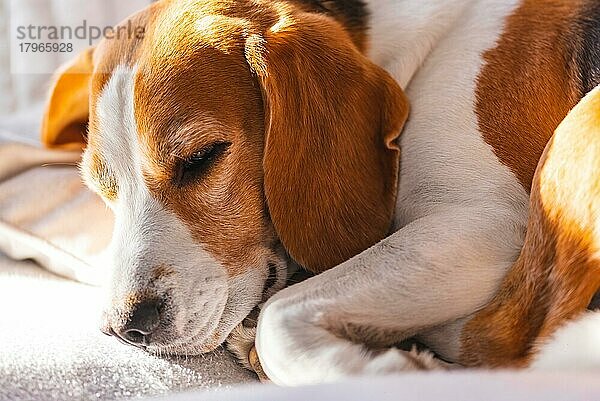
<svg viewBox="0 0 600 401">
<path fill-rule="evenodd" d="M 112 215 L 83 186 L 78 159 L 78 153 L 13 142 L 0 131 L 0 250 L 101 283 Z"/>
</svg>

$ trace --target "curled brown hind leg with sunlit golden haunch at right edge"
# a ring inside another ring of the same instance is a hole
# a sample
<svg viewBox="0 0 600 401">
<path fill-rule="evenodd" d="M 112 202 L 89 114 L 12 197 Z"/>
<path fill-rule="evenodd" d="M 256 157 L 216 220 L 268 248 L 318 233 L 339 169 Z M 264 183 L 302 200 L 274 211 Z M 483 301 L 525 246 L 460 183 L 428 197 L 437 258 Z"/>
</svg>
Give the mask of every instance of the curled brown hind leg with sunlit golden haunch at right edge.
<svg viewBox="0 0 600 401">
<path fill-rule="evenodd" d="M 461 363 L 526 366 L 535 344 L 600 287 L 600 88 L 560 125 L 537 169 L 525 245 L 492 302 L 463 329 Z"/>
</svg>

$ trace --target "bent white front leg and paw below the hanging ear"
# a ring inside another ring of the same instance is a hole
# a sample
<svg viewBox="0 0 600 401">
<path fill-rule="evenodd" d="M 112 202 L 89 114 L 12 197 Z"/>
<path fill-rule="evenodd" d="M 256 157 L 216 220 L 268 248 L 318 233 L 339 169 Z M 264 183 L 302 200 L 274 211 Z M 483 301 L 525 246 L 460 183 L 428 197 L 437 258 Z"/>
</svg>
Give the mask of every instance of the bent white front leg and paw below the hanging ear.
<svg viewBox="0 0 600 401">
<path fill-rule="evenodd" d="M 279 292 L 259 318 L 265 372 L 298 385 L 439 366 L 390 347 L 490 300 L 522 245 L 515 215 L 492 205 L 446 208 Z"/>
</svg>

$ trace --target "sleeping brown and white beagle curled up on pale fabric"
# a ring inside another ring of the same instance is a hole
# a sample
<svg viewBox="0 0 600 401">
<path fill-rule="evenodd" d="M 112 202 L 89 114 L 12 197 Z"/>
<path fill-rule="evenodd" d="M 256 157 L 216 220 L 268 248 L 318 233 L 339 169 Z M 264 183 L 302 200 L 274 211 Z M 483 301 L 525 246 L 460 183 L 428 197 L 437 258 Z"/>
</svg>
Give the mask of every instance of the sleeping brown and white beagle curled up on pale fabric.
<svg viewBox="0 0 600 401">
<path fill-rule="evenodd" d="M 600 329 L 600 3 L 163 0 L 129 23 L 59 71 L 42 132 L 85 145 L 115 214 L 106 333 L 208 352 L 268 299 L 280 384 L 436 365 L 407 338 L 599 366 L 573 336 Z M 319 274 L 281 290 L 296 265 Z"/>
</svg>

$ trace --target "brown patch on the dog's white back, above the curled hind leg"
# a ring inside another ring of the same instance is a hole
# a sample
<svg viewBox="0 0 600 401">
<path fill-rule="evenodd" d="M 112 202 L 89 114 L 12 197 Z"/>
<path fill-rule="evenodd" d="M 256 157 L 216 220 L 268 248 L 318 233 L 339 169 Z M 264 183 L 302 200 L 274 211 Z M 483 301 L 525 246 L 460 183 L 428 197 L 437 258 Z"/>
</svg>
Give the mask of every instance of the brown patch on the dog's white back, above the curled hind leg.
<svg viewBox="0 0 600 401">
<path fill-rule="evenodd" d="M 524 0 L 487 51 L 476 89 L 484 140 L 527 190 L 554 129 L 581 98 L 573 0 Z"/>
</svg>

